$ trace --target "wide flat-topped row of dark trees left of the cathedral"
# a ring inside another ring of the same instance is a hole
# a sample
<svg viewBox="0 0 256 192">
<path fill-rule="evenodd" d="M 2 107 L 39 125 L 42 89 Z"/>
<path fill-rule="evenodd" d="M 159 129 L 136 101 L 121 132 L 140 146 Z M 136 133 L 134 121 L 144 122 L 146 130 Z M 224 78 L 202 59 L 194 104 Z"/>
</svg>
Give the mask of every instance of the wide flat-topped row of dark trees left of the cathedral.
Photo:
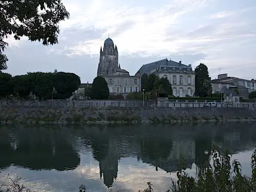
<svg viewBox="0 0 256 192">
<path fill-rule="evenodd" d="M 78 89 L 80 78 L 74 73 L 28 73 L 14 76 L 11 80 L 13 92 L 19 97 L 27 97 L 32 92 L 41 100 L 69 98 Z M 53 88 L 55 92 L 53 92 Z"/>
</svg>

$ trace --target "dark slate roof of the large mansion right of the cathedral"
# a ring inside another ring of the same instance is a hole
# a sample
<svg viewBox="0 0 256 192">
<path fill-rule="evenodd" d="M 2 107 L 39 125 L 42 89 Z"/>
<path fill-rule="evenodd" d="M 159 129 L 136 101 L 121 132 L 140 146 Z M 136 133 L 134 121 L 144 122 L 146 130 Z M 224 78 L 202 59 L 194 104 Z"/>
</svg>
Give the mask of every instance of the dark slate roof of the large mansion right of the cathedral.
<svg viewBox="0 0 256 192">
<path fill-rule="evenodd" d="M 166 58 L 166 59 L 154 61 L 154 62 L 151 62 L 151 63 L 147 63 L 147 64 L 141 66 L 141 68 L 135 74 L 135 76 L 141 76 L 144 73 L 149 75 L 149 74 L 151 74 L 152 70 L 156 69 L 156 67 L 159 68 L 160 66 L 164 66 L 164 67 L 177 67 L 177 68 L 191 68 L 191 67 L 189 67 L 187 65 L 184 65 L 184 64 L 176 62 L 176 61 L 168 60 Z"/>
</svg>

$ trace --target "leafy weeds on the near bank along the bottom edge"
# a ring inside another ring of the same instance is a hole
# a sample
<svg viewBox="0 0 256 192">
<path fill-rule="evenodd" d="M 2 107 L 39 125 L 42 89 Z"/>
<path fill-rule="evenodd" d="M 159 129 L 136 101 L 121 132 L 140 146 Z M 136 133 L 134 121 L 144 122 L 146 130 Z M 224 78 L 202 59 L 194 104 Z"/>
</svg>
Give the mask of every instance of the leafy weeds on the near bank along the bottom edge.
<svg viewBox="0 0 256 192">
<path fill-rule="evenodd" d="M 241 174 L 241 164 L 237 160 L 231 163 L 231 154 L 223 154 L 217 147 L 210 152 L 208 162 L 198 167 L 196 177 L 191 177 L 182 170 L 183 163 L 179 164 L 178 181 L 171 180 L 167 192 L 253 192 L 256 191 L 256 149 L 251 156 L 251 177 Z M 210 160 L 213 163 L 210 164 Z M 19 184 L 20 178 L 8 178 L 0 185 L 0 192 L 29 192 L 24 185 Z M 147 188 L 138 192 L 152 192 L 154 185 L 147 182 Z M 86 192 L 87 188 L 81 185 L 79 192 Z"/>
</svg>

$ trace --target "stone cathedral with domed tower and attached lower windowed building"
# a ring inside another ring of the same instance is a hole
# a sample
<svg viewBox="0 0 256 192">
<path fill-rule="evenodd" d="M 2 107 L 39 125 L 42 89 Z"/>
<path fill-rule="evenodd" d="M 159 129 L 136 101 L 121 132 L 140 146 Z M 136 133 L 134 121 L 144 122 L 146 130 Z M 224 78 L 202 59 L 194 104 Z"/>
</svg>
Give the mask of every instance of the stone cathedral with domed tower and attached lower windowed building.
<svg viewBox="0 0 256 192">
<path fill-rule="evenodd" d="M 104 41 L 103 50 L 100 47 L 97 76 L 102 76 L 108 83 L 110 94 L 122 94 L 141 91 L 141 80 L 138 76 L 130 76 L 129 72 L 121 69 L 118 63 L 117 46 L 111 38 Z"/>
</svg>

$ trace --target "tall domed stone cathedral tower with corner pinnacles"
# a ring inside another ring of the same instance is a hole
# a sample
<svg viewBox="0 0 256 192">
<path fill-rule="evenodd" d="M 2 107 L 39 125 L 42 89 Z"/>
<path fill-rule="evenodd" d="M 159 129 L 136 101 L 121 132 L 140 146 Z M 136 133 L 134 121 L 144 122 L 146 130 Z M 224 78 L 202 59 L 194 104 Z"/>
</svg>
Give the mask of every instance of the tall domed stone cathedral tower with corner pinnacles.
<svg viewBox="0 0 256 192">
<path fill-rule="evenodd" d="M 114 42 L 111 38 L 107 38 L 104 41 L 103 50 L 100 47 L 100 57 L 97 76 L 114 75 L 116 68 L 118 68 L 117 46 L 114 46 Z"/>
</svg>

